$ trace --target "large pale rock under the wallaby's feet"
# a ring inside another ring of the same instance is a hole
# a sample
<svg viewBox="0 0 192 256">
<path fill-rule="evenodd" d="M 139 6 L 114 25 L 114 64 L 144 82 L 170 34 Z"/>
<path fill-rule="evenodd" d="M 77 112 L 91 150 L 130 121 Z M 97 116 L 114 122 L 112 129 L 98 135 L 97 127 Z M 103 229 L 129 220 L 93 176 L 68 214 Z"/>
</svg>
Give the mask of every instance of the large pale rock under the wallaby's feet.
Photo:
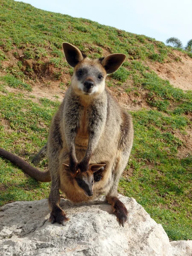
<svg viewBox="0 0 192 256">
<path fill-rule="evenodd" d="M 173 250 L 163 227 L 151 219 L 133 198 L 119 197 L 129 212 L 125 227 L 119 226 L 104 197 L 78 206 L 61 200 L 62 208 L 70 218 L 65 226 L 48 221 L 47 199 L 6 204 L 0 212 L 0 255 L 191 255 L 182 254 L 182 249 L 176 254 L 177 244 L 173 244 Z M 186 244 L 183 246 L 186 249 Z"/>
</svg>

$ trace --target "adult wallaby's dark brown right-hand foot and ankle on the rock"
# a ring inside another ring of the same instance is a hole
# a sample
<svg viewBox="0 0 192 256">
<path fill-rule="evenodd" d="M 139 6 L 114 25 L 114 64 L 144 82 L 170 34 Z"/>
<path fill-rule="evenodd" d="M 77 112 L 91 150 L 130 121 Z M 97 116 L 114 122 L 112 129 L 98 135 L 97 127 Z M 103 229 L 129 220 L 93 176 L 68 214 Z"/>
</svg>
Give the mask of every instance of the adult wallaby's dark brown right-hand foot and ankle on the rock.
<svg viewBox="0 0 192 256">
<path fill-rule="evenodd" d="M 112 205 L 116 219 L 119 221 L 120 226 L 122 225 L 122 227 L 124 227 L 128 216 L 127 208 L 117 197 L 107 197 L 107 201 Z"/>
</svg>

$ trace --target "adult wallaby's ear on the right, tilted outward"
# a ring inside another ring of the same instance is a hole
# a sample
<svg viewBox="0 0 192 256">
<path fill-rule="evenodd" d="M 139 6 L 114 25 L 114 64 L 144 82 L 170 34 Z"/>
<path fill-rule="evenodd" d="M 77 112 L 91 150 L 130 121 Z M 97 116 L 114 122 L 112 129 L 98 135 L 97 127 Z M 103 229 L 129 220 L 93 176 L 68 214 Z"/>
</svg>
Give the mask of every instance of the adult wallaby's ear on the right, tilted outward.
<svg viewBox="0 0 192 256">
<path fill-rule="evenodd" d="M 105 57 L 101 64 L 105 68 L 107 74 L 111 74 L 121 67 L 125 61 L 126 55 L 122 53 L 113 53 Z"/>
</svg>

